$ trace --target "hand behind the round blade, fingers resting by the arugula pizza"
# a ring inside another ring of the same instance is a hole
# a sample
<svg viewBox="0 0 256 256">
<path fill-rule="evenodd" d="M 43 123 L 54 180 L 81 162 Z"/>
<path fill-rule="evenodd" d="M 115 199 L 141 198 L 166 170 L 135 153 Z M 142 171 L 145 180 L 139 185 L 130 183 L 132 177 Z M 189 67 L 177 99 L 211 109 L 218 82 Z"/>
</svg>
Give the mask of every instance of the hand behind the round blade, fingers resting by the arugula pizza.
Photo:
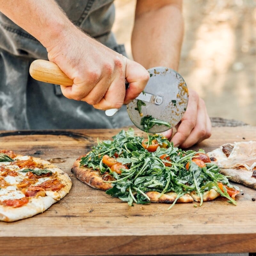
<svg viewBox="0 0 256 256">
<path fill-rule="evenodd" d="M 176 129 L 173 137 L 172 129 L 163 132 L 163 135 L 172 137 L 174 146 L 180 148 L 189 148 L 211 136 L 212 124 L 204 100 L 194 90 L 189 90 L 188 107 Z"/>
</svg>

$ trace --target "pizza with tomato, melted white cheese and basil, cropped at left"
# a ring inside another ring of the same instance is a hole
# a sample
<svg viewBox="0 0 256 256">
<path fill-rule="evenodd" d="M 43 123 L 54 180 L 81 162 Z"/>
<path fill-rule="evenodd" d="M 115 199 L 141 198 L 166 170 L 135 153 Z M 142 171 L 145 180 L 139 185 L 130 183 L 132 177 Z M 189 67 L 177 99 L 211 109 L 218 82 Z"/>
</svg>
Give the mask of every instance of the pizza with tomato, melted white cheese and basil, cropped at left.
<svg viewBox="0 0 256 256">
<path fill-rule="evenodd" d="M 44 212 L 71 188 L 68 174 L 50 162 L 0 150 L 0 220 L 15 221 Z"/>
</svg>

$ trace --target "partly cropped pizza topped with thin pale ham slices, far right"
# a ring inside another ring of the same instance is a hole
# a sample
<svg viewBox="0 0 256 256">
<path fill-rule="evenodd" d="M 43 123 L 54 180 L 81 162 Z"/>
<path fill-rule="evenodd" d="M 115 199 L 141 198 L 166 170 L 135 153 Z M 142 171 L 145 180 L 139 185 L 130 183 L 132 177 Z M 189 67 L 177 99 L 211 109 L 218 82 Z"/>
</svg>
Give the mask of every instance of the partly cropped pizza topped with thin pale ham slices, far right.
<svg viewBox="0 0 256 256">
<path fill-rule="evenodd" d="M 256 189 L 256 141 L 227 143 L 207 155 L 229 180 Z"/>
</svg>

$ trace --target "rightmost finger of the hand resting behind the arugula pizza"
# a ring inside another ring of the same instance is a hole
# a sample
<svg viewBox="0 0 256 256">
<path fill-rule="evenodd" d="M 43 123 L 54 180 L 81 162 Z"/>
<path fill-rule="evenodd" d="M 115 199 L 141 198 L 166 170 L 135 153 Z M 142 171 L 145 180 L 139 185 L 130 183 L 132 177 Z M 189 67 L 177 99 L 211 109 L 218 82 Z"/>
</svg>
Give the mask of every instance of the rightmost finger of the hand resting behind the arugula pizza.
<svg viewBox="0 0 256 256">
<path fill-rule="evenodd" d="M 189 148 L 202 140 L 209 138 L 211 136 L 211 120 L 207 114 L 204 101 L 200 99 L 196 125 L 192 132 L 189 134 L 188 138 L 180 144 L 181 148 Z"/>
</svg>

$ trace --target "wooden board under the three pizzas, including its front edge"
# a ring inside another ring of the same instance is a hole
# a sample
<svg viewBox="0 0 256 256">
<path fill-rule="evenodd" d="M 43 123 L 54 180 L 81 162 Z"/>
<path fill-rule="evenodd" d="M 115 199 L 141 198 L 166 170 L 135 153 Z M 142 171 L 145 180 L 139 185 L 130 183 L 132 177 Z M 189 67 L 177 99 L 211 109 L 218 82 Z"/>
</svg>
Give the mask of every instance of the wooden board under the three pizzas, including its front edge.
<svg viewBox="0 0 256 256">
<path fill-rule="evenodd" d="M 0 222 L 0 255 L 157 255 L 256 251 L 256 190 L 239 185 L 237 206 L 218 198 L 198 203 L 129 207 L 77 180 L 70 169 L 97 138 L 118 130 L 0 132 L 0 148 L 50 160 L 67 172 L 69 194 L 45 212 Z M 142 133 L 136 130 L 138 135 Z M 40 134 L 37 134 L 40 133 Z M 50 133 L 50 134 L 47 134 Z M 215 127 L 192 149 L 256 140 L 256 127 Z M 195 207 L 196 206 L 196 207 Z"/>
</svg>

